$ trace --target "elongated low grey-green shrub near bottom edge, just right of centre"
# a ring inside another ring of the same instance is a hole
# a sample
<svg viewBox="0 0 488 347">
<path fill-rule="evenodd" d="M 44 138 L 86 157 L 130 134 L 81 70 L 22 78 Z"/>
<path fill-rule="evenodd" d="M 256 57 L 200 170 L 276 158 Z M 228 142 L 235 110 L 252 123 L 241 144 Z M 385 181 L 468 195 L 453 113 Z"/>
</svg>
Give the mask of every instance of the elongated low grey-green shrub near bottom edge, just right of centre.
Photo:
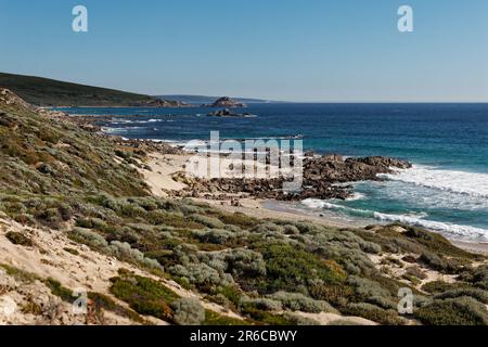
<svg viewBox="0 0 488 347">
<path fill-rule="evenodd" d="M 269 297 L 273 300 L 280 301 L 283 308 L 292 311 L 338 313 L 338 311 L 329 305 L 329 303 L 323 300 L 314 300 L 300 293 L 277 292 Z"/>
</svg>

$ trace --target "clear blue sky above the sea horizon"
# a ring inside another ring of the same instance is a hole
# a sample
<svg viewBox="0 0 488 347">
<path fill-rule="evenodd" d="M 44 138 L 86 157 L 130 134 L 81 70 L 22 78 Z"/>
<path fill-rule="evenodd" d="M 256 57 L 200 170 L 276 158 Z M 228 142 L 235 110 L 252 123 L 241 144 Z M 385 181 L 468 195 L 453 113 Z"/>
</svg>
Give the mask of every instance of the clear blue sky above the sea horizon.
<svg viewBox="0 0 488 347">
<path fill-rule="evenodd" d="M 147 94 L 488 102 L 487 0 L 0 0 L 0 72 Z"/>
</svg>

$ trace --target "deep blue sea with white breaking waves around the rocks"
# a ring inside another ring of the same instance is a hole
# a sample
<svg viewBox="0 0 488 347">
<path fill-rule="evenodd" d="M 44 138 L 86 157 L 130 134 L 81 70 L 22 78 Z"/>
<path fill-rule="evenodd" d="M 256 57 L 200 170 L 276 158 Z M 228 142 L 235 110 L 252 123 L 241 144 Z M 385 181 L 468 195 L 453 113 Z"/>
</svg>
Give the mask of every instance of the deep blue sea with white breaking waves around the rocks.
<svg viewBox="0 0 488 347">
<path fill-rule="evenodd" d="M 351 221 L 403 221 L 451 239 L 488 242 L 488 104 L 253 104 L 249 118 L 209 108 L 67 108 L 117 115 L 105 131 L 125 138 L 207 140 L 303 136 L 306 150 L 408 159 L 410 170 L 355 183 L 349 201 L 298 208 Z"/>
</svg>

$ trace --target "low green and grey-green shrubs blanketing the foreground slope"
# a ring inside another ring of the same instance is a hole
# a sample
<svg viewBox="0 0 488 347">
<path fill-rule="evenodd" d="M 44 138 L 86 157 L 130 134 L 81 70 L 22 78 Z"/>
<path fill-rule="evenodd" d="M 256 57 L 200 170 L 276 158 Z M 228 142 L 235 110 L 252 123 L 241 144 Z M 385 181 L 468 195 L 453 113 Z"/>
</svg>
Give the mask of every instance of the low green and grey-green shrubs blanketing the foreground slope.
<svg viewBox="0 0 488 347">
<path fill-rule="evenodd" d="M 136 169 L 146 158 L 144 149 L 115 145 L 1 98 L 7 97 L 0 94 L 0 211 L 150 271 L 153 278 L 120 271 L 112 279 L 112 295 L 133 311 L 126 314 L 177 324 L 304 323 L 296 311 L 383 324 L 488 322 L 488 267 L 477 266 L 485 258 L 440 235 L 400 224 L 357 230 L 258 220 L 191 200 L 151 196 Z M 28 235 L 5 236 L 30 245 Z M 409 261 L 387 259 L 395 254 Z M 377 257 L 402 269 L 401 275 L 382 272 Z M 421 285 L 427 271 L 455 283 Z M 205 309 L 156 279 L 171 279 L 244 320 Z M 70 294 L 54 280 L 46 284 L 60 297 Z M 413 314 L 398 313 L 402 287 L 414 294 Z M 92 298 L 121 309 L 107 297 Z"/>
</svg>

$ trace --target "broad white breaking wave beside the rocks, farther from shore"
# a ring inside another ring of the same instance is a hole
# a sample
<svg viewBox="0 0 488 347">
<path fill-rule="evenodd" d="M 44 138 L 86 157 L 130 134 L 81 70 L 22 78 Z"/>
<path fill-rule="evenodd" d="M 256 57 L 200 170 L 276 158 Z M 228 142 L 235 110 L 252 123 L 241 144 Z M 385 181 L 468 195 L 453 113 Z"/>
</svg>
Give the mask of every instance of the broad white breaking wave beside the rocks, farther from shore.
<svg viewBox="0 0 488 347">
<path fill-rule="evenodd" d="M 396 170 L 395 174 L 378 175 L 378 177 L 457 194 L 488 197 L 487 174 L 414 166 L 411 169 Z"/>
</svg>

